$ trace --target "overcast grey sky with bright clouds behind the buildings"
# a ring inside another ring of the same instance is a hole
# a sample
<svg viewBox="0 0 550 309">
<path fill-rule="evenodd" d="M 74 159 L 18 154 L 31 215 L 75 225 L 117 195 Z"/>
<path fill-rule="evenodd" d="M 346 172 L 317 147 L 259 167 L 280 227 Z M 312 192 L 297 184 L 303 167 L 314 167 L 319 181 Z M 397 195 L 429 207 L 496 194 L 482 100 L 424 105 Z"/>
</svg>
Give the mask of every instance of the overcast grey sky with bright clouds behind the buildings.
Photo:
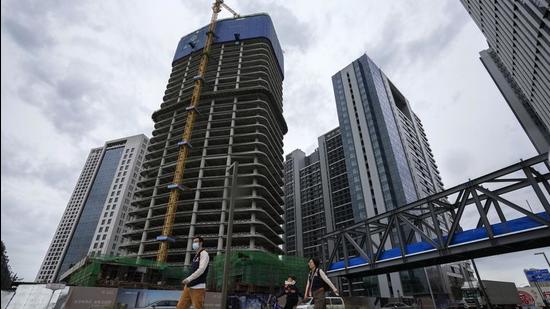
<svg viewBox="0 0 550 309">
<path fill-rule="evenodd" d="M 150 136 L 178 40 L 209 21 L 210 2 L 2 1 L 2 240 L 19 276 L 35 279 L 90 148 Z M 338 126 L 331 76 L 366 52 L 423 121 L 446 187 L 536 154 L 459 1 L 226 3 L 274 21 L 285 153 Z M 517 284 L 547 267 L 533 251 L 478 261 L 485 279 Z"/>
</svg>

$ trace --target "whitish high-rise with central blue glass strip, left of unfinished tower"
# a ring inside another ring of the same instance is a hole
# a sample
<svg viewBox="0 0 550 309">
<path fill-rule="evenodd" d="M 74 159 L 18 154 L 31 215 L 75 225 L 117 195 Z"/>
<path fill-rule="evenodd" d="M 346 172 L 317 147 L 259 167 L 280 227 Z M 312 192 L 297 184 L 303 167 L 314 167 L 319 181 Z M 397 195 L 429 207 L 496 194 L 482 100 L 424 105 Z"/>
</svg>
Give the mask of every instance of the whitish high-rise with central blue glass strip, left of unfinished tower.
<svg viewBox="0 0 550 309">
<path fill-rule="evenodd" d="M 124 221 L 148 139 L 136 135 L 90 151 L 36 277 L 54 282 L 88 254 L 124 254 Z"/>
</svg>

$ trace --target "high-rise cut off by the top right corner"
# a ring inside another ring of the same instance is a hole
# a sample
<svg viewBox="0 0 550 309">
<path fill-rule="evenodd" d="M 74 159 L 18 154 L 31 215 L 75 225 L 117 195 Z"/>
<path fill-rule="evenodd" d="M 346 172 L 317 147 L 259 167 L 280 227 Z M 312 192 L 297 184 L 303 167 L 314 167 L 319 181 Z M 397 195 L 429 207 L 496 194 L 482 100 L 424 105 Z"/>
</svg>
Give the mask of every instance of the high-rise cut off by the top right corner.
<svg viewBox="0 0 550 309">
<path fill-rule="evenodd" d="M 481 62 L 539 153 L 550 150 L 550 2 L 461 0 L 487 39 Z"/>
</svg>

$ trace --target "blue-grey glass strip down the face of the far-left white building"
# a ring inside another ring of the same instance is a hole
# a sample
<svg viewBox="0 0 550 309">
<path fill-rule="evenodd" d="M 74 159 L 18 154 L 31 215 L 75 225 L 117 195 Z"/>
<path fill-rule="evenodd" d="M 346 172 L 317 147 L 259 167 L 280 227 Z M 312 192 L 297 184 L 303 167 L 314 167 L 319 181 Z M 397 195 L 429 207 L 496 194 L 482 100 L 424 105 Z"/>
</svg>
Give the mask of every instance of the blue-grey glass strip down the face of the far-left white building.
<svg viewBox="0 0 550 309">
<path fill-rule="evenodd" d="M 67 252 L 61 263 L 61 268 L 58 272 L 59 275 L 62 275 L 72 265 L 88 254 L 123 150 L 124 147 L 119 147 L 105 151 L 75 231 L 72 234 Z"/>
</svg>

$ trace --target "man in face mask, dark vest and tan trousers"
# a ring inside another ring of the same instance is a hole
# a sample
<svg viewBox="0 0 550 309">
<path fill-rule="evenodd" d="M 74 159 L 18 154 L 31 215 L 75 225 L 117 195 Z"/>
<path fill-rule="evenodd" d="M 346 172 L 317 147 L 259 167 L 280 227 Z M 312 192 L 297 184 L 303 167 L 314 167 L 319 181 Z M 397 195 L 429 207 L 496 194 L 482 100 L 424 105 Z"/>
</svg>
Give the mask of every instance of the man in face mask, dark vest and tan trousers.
<svg viewBox="0 0 550 309">
<path fill-rule="evenodd" d="M 202 247 L 203 244 L 204 239 L 202 237 L 193 238 L 193 250 L 195 250 L 195 257 L 193 257 L 191 265 L 193 273 L 181 282 L 185 287 L 178 301 L 177 309 L 189 309 L 191 303 L 194 309 L 202 309 L 203 307 L 208 263 L 210 262 L 208 252 Z"/>
</svg>

